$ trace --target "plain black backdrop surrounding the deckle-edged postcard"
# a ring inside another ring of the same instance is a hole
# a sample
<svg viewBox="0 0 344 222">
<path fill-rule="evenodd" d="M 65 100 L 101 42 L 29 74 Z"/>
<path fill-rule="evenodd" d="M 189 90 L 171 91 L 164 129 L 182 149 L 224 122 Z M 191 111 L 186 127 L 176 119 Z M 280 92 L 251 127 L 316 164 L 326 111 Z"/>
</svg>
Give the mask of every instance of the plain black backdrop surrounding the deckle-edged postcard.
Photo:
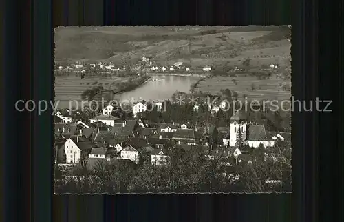
<svg viewBox="0 0 344 222">
<path fill-rule="evenodd" d="M 53 98 L 53 28 L 56 26 L 292 24 L 292 94 L 332 99 L 343 94 L 338 51 L 342 6 L 329 1 L 101 1 L 36 0 L 1 4 L 3 70 L 3 178 L 1 221 L 342 221 L 343 151 L 340 112 L 292 115 L 292 194 L 54 196 L 52 116 L 16 112 L 18 99 Z M 341 3 L 338 1 L 338 3 Z M 327 16 L 324 14 L 327 13 Z M 322 15 L 322 16 L 321 16 Z M 333 28 L 332 28 L 333 26 Z M 321 28 L 321 29 L 319 29 Z M 340 77 L 341 78 L 341 77 Z M 330 115 L 334 116 L 334 124 Z M 338 171 L 339 170 L 339 171 Z M 319 183 L 319 181 L 321 183 Z M 334 183 L 332 183 L 334 182 Z M 323 191 L 320 192 L 319 188 Z M 331 201 L 336 198 L 338 202 Z M 325 212 L 327 215 L 325 216 Z"/>
</svg>

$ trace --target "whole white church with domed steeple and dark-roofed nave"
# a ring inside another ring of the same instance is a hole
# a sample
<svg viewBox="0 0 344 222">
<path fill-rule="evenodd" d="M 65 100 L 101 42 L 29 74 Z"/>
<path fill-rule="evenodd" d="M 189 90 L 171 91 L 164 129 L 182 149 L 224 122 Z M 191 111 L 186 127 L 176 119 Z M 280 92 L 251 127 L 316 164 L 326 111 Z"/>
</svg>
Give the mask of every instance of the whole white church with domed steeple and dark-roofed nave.
<svg viewBox="0 0 344 222">
<path fill-rule="evenodd" d="M 257 148 L 259 145 L 264 145 L 265 148 L 275 145 L 275 140 L 266 131 L 264 125 L 248 123 L 242 112 L 236 112 L 230 117 L 230 128 L 223 139 L 225 146 L 235 147 L 239 130 L 244 144 L 252 148 Z"/>
</svg>

